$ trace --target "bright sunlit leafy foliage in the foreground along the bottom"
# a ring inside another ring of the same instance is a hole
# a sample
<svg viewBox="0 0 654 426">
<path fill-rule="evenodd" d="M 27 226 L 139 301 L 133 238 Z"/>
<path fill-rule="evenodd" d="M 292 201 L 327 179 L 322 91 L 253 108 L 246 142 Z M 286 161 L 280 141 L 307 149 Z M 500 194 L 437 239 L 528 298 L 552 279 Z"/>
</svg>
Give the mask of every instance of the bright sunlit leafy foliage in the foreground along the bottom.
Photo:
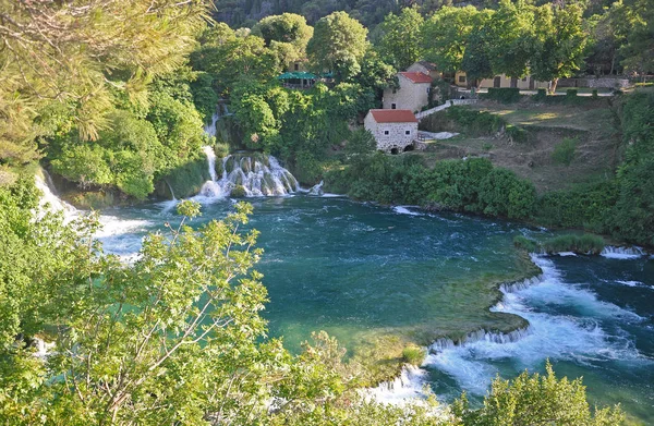
<svg viewBox="0 0 654 426">
<path fill-rule="evenodd" d="M 360 141 L 356 151 L 365 145 Z M 299 355 L 266 338 L 259 316 L 266 289 L 252 270 L 262 255 L 254 246 L 257 232 L 240 230 L 251 206 L 239 204 L 225 220 L 194 230 L 189 223 L 199 206 L 184 202 L 181 223 L 150 234 L 141 257 L 125 265 L 104 255 L 90 236 L 93 217 L 64 226 L 60 215 L 37 208 L 38 196 L 26 180 L 0 188 L 2 424 L 621 421 L 618 411 L 592 416 L 581 384 L 556 380 L 550 367 L 547 378 L 497 380 L 479 411 L 464 399 L 455 413 L 433 398 L 402 407 L 370 401 L 356 388 L 361 366 L 344 363 L 344 350 L 326 333 L 314 334 Z M 37 356 L 35 338 L 55 343 L 47 355 Z"/>
</svg>

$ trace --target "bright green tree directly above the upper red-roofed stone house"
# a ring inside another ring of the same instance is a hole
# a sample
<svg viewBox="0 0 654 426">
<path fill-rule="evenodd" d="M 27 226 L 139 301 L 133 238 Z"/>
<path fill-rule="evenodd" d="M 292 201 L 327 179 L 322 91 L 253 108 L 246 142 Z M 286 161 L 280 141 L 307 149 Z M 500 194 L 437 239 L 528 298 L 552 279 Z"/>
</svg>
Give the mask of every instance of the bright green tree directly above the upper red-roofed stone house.
<svg viewBox="0 0 654 426">
<path fill-rule="evenodd" d="M 397 70 L 405 70 L 423 57 L 420 32 L 424 23 L 417 9 L 404 8 L 399 15 L 388 14 L 379 24 L 379 52 Z"/>
</svg>

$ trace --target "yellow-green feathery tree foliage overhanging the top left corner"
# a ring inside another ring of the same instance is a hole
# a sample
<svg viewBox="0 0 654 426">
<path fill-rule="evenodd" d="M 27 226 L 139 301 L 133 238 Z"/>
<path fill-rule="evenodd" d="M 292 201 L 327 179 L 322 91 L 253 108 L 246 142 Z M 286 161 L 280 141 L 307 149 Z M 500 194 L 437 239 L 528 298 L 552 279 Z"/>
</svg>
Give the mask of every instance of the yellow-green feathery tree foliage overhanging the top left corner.
<svg viewBox="0 0 654 426">
<path fill-rule="evenodd" d="M 0 160 L 36 156 L 48 129 L 34 120 L 53 102 L 96 138 L 110 90 L 134 96 L 180 65 L 204 16 L 199 0 L 0 0 Z"/>
</svg>

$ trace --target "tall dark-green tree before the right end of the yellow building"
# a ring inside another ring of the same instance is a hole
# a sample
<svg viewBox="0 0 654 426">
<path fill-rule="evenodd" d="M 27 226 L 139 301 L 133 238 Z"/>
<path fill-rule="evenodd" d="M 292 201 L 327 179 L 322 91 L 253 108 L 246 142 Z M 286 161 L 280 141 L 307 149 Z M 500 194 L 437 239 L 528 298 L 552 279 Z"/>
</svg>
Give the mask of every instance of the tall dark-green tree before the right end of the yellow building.
<svg viewBox="0 0 654 426">
<path fill-rule="evenodd" d="M 582 13 L 577 3 L 544 4 L 535 10 L 531 74 L 542 82 L 552 81 L 552 92 L 559 78 L 571 76 L 583 64 Z"/>
</svg>

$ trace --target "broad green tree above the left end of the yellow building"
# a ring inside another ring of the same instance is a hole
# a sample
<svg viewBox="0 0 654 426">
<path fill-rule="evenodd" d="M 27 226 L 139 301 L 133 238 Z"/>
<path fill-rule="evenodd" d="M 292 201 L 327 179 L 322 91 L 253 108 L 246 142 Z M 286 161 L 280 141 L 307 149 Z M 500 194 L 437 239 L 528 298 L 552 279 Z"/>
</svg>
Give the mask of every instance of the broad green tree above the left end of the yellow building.
<svg viewBox="0 0 654 426">
<path fill-rule="evenodd" d="M 435 62 L 444 71 L 461 70 L 470 34 L 483 22 L 484 14 L 472 5 L 439 9 L 423 25 L 422 48 L 425 59 Z"/>
</svg>

